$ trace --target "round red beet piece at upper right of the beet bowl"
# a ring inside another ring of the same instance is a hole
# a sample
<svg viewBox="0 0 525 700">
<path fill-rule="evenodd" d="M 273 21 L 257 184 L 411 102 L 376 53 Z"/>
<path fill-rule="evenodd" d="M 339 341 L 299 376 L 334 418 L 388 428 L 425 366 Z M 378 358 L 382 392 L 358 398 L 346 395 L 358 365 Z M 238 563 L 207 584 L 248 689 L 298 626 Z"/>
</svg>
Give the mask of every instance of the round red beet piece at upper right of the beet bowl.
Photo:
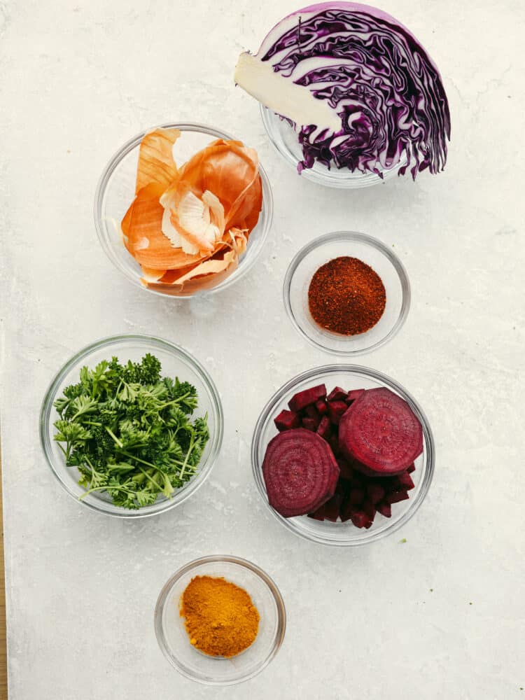
<svg viewBox="0 0 525 700">
<path fill-rule="evenodd" d="M 387 388 L 365 391 L 339 421 L 344 456 L 377 475 L 405 471 L 423 451 L 423 430 L 406 401 Z"/>
</svg>

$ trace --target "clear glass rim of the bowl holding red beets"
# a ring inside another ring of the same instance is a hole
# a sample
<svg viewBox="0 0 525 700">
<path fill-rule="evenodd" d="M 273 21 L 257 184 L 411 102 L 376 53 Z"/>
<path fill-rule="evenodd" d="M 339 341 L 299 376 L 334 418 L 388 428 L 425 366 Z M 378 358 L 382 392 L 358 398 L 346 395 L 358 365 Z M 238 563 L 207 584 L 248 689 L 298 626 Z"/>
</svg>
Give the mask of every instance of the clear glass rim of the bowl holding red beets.
<svg viewBox="0 0 525 700">
<path fill-rule="evenodd" d="M 365 531 L 363 533 L 363 536 L 358 540 L 336 540 L 331 539 L 330 537 L 321 537 L 312 533 L 305 533 L 304 531 L 300 530 L 295 526 L 293 519 L 285 518 L 281 514 L 276 512 L 276 510 L 274 510 L 272 506 L 268 503 L 265 484 L 262 479 L 262 465 L 259 462 L 258 458 L 262 430 L 267 422 L 267 419 L 271 417 L 270 414 L 272 414 L 276 405 L 279 404 L 279 402 L 281 402 L 283 397 L 286 396 L 286 394 L 291 389 L 297 386 L 297 384 L 300 384 L 306 379 L 315 379 L 321 374 L 339 374 L 341 372 L 361 374 L 365 377 L 369 377 L 370 379 L 380 381 L 381 383 L 385 384 L 389 388 L 392 388 L 397 393 L 399 393 L 400 396 L 412 408 L 419 421 L 421 422 L 421 426 L 423 428 L 423 444 L 426 447 L 426 461 L 425 463 L 423 463 L 423 482 L 421 483 L 421 489 L 419 489 L 419 492 L 417 493 L 415 498 L 412 498 L 410 500 L 410 505 L 405 514 L 403 514 L 402 517 L 398 519 L 398 521 L 391 523 L 390 526 L 388 526 L 382 531 Z M 391 377 L 388 377 L 386 374 L 378 372 L 377 370 L 372 370 L 370 367 L 363 367 L 362 365 L 323 365 L 322 367 L 313 367 L 311 370 L 307 370 L 306 372 L 301 372 L 300 374 L 297 374 L 295 377 L 287 381 L 286 384 L 283 384 L 283 386 L 281 386 L 281 388 L 279 388 L 274 393 L 274 395 L 272 395 L 272 398 L 269 399 L 265 407 L 262 409 L 262 412 L 258 417 L 257 423 L 255 423 L 255 429 L 253 430 L 253 437 L 251 442 L 251 466 L 253 478 L 255 479 L 255 484 L 257 485 L 259 494 L 263 502 L 265 503 L 268 510 L 273 514 L 273 516 L 282 525 L 288 528 L 288 530 L 293 532 L 295 535 L 299 535 L 303 539 L 308 540 L 309 542 L 318 542 L 318 544 L 321 545 L 330 545 L 334 547 L 358 547 L 360 545 L 367 545 L 370 542 L 377 542 L 378 540 L 381 540 L 382 538 L 386 537 L 386 535 L 391 535 L 400 527 L 407 524 L 409 519 L 411 519 L 412 516 L 416 513 L 416 511 L 419 509 L 421 503 L 423 503 L 423 500 L 426 497 L 426 494 L 428 493 L 428 489 L 430 488 L 430 484 L 434 475 L 434 436 L 432 430 L 430 430 L 428 419 L 423 413 L 423 409 L 421 409 L 419 403 L 416 402 L 414 397 L 403 386 L 401 386 L 401 384 L 399 384 L 398 381 L 395 381 L 395 379 L 392 379 Z"/>
</svg>

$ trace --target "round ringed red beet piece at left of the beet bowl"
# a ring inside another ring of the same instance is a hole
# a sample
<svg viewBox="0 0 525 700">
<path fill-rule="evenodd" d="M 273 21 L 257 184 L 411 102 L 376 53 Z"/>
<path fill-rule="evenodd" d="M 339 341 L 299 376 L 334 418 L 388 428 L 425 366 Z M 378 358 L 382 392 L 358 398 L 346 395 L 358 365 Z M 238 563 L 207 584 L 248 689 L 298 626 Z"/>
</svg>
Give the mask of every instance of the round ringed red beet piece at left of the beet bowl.
<svg viewBox="0 0 525 700">
<path fill-rule="evenodd" d="M 334 495 L 339 467 L 322 437 L 294 428 L 270 440 L 262 476 L 269 505 L 289 518 L 314 512 Z"/>
</svg>

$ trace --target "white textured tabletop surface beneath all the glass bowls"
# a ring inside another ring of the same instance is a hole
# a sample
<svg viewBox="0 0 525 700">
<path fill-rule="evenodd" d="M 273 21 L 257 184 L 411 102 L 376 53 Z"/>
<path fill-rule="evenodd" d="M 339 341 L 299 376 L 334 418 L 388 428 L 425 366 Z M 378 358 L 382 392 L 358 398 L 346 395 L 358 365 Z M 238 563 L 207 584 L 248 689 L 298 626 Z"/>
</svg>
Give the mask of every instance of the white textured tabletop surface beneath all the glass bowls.
<svg viewBox="0 0 525 700">
<path fill-rule="evenodd" d="M 258 106 L 232 85 L 239 50 L 284 0 L 0 0 L 2 448 L 12 700 L 508 700 L 525 697 L 523 243 L 525 102 L 517 0 L 384 0 L 440 66 L 447 170 L 353 193 L 299 179 Z M 274 226 L 262 258 L 221 295 L 214 323 L 133 288 L 92 221 L 111 153 L 144 127 L 201 120 L 260 151 Z M 330 357 L 286 318 L 281 282 L 305 241 L 349 228 L 392 245 L 412 281 L 400 335 L 363 358 L 421 402 L 437 470 L 416 517 L 376 545 L 295 538 L 251 477 L 269 395 Z M 195 500 L 161 517 L 102 517 L 59 488 L 38 444 L 52 374 L 80 346 L 151 332 L 216 379 L 224 447 Z M 401 538 L 407 542 L 400 543 Z M 195 556 L 232 553 L 281 588 L 288 631 L 257 678 L 203 687 L 167 664 L 158 591 Z"/>
</svg>

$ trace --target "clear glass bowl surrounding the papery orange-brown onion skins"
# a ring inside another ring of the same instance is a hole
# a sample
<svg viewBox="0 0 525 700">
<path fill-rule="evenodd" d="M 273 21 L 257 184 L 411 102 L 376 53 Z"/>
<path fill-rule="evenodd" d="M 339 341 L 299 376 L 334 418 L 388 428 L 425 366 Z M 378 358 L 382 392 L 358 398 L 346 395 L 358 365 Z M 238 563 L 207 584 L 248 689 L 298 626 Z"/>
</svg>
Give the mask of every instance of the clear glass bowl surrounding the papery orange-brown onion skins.
<svg viewBox="0 0 525 700">
<path fill-rule="evenodd" d="M 94 223 L 97 228 L 97 235 L 104 253 L 113 262 L 113 265 L 122 272 L 136 286 L 146 289 L 162 296 L 176 298 L 189 298 L 197 294 L 210 294 L 225 289 L 237 279 L 248 272 L 255 260 L 257 260 L 262 246 L 272 224 L 273 199 L 272 188 L 269 185 L 267 174 L 262 165 L 259 165 L 259 172 L 262 181 L 262 209 L 259 221 L 248 238 L 246 252 L 239 260 L 239 265 L 232 274 L 219 281 L 214 287 L 206 290 L 177 292 L 169 284 L 155 284 L 144 286 L 141 282 L 141 267 L 133 256 L 127 252 L 120 222 L 130 207 L 135 193 L 135 180 L 137 178 L 137 163 L 139 160 L 139 147 L 144 135 L 155 128 L 179 129 L 182 134 L 174 146 L 174 155 L 178 163 L 186 162 L 197 151 L 207 146 L 215 139 L 232 139 L 230 134 L 222 132 L 213 127 L 202 124 L 162 124 L 159 127 L 151 127 L 147 132 L 141 132 L 136 137 L 127 141 L 122 148 L 109 161 L 104 169 L 97 186 L 94 197 Z"/>
</svg>

